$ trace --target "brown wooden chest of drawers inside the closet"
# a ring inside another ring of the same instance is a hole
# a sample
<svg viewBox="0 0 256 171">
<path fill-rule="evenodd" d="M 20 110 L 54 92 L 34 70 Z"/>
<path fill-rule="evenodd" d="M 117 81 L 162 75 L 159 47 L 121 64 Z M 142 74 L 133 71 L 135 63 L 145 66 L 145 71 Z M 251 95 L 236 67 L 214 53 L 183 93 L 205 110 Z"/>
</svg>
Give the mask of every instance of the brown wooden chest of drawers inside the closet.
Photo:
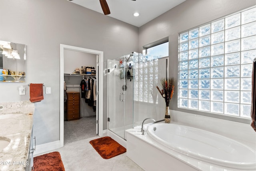
<svg viewBox="0 0 256 171">
<path fill-rule="evenodd" d="M 67 120 L 80 119 L 80 93 L 67 92 Z"/>
</svg>

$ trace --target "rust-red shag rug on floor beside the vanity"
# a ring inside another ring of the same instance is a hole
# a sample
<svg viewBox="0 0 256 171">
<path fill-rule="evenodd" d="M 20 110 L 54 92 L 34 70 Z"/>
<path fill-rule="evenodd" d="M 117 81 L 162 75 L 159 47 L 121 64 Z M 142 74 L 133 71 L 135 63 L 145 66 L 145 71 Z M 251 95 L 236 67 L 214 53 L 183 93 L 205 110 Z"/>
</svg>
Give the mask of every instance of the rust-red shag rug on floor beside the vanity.
<svg viewBox="0 0 256 171">
<path fill-rule="evenodd" d="M 65 171 L 60 153 L 52 152 L 34 157 L 34 171 Z"/>
</svg>

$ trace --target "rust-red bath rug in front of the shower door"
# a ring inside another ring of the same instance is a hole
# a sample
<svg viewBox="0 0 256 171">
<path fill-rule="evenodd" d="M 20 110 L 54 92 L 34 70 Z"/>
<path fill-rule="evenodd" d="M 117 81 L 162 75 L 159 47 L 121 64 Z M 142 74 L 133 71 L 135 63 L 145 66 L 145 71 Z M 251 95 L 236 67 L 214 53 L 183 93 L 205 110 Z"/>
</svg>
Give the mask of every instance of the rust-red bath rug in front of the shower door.
<svg viewBox="0 0 256 171">
<path fill-rule="evenodd" d="M 110 137 L 94 139 L 90 144 L 103 159 L 110 159 L 126 152 L 126 148 Z"/>
</svg>

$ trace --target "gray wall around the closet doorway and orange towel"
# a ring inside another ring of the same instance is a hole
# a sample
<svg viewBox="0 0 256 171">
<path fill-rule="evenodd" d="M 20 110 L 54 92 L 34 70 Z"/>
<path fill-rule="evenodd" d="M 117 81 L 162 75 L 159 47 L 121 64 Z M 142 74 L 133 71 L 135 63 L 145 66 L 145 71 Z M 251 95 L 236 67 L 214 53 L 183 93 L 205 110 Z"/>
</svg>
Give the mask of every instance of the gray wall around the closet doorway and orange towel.
<svg viewBox="0 0 256 171">
<path fill-rule="evenodd" d="M 67 0 L 1 0 L 0 15 L 0 40 L 27 45 L 26 84 L 44 83 L 44 91 L 45 87 L 52 88 L 51 94 L 44 93 L 44 100 L 35 103 L 34 134 L 38 145 L 60 139 L 60 44 L 103 51 L 104 70 L 107 59 L 138 51 L 138 27 Z M 103 81 L 106 129 L 106 74 Z M 29 100 L 26 84 L 0 83 L 0 101 Z M 21 85 L 26 95 L 18 94 Z"/>
</svg>

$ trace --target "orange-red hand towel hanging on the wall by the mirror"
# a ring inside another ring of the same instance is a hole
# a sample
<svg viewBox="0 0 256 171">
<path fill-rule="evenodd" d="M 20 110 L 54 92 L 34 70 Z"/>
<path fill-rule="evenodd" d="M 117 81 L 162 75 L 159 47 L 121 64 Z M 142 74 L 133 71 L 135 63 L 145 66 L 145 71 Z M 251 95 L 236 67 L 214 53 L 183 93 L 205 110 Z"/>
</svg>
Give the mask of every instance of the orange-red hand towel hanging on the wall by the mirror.
<svg viewBox="0 0 256 171">
<path fill-rule="evenodd" d="M 37 102 L 44 99 L 43 84 L 30 84 L 30 101 Z"/>
</svg>

